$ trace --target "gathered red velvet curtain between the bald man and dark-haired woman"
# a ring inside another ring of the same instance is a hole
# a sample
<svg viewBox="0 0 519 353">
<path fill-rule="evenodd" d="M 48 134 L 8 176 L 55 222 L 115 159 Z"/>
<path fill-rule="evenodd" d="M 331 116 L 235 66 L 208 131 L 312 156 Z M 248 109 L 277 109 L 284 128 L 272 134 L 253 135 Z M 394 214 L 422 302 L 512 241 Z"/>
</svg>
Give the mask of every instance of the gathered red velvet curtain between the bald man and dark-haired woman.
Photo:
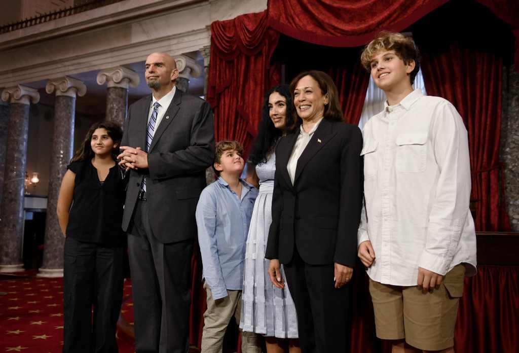
<svg viewBox="0 0 519 353">
<path fill-rule="evenodd" d="M 207 100 L 216 141 L 237 140 L 248 150 L 261 119 L 263 94 L 280 80 L 279 70 L 269 65 L 278 38 L 267 28 L 266 12 L 211 24 Z"/>
</svg>

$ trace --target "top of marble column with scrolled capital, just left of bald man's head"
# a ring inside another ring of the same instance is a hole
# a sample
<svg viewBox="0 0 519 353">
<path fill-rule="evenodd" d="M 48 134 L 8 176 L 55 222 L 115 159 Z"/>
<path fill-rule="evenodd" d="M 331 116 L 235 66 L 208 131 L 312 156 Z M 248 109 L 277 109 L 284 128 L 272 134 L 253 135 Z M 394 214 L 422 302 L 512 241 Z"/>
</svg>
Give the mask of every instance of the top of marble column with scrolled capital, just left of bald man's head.
<svg viewBox="0 0 519 353">
<path fill-rule="evenodd" d="M 128 87 L 137 87 L 139 81 L 139 74 L 122 66 L 98 73 L 97 83 L 107 84 L 106 120 L 114 121 L 121 126 L 124 124 L 128 113 Z"/>
</svg>

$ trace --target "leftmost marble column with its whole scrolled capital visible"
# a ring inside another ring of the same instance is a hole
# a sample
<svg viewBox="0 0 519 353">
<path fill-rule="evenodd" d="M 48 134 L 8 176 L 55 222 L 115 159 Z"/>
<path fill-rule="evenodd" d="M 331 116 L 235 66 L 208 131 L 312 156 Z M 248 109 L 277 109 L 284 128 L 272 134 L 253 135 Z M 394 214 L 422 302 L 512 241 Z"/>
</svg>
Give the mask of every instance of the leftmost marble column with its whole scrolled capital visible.
<svg viewBox="0 0 519 353">
<path fill-rule="evenodd" d="M 18 272 L 23 271 L 23 202 L 29 109 L 31 101 L 39 101 L 39 93 L 33 88 L 18 85 L 4 89 L 2 100 L 10 101 L 10 108 L 0 207 L 0 272 Z"/>
</svg>

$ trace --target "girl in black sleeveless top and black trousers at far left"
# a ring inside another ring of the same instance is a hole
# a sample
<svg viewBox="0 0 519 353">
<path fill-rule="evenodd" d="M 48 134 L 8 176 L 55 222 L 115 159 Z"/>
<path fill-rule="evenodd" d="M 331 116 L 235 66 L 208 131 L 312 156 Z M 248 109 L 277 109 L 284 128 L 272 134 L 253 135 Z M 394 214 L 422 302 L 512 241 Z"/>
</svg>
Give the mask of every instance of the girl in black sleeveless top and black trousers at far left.
<svg viewBox="0 0 519 353">
<path fill-rule="evenodd" d="M 116 164 L 121 138 L 118 125 L 93 124 L 61 183 L 57 213 L 66 237 L 63 352 L 118 351 L 115 330 L 126 250 L 121 230 L 125 181 Z"/>
</svg>

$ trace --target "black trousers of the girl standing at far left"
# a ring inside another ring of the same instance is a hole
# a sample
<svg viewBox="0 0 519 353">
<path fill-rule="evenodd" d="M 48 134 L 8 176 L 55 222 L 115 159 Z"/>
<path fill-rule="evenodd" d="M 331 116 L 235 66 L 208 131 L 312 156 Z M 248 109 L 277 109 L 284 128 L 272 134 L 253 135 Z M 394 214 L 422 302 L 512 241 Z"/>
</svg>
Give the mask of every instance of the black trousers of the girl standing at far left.
<svg viewBox="0 0 519 353">
<path fill-rule="evenodd" d="M 66 238 L 63 353 L 118 351 L 115 330 L 121 310 L 125 250 Z"/>
</svg>

